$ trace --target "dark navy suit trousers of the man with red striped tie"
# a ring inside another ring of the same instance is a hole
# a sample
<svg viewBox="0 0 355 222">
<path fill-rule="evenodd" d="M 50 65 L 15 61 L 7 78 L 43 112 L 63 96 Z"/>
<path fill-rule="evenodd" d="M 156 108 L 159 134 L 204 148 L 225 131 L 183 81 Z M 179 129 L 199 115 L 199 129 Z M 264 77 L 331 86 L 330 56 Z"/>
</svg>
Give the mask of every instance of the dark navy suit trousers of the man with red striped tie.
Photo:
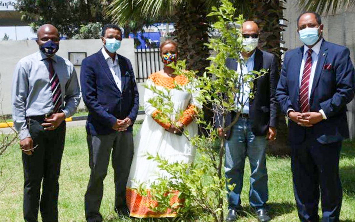
<svg viewBox="0 0 355 222">
<path fill-rule="evenodd" d="M 320 144 L 307 139 L 291 144 L 291 167 L 294 194 L 302 222 L 318 222 L 321 197 L 322 222 L 338 222 L 342 206 L 339 157 L 342 141 Z"/>
</svg>

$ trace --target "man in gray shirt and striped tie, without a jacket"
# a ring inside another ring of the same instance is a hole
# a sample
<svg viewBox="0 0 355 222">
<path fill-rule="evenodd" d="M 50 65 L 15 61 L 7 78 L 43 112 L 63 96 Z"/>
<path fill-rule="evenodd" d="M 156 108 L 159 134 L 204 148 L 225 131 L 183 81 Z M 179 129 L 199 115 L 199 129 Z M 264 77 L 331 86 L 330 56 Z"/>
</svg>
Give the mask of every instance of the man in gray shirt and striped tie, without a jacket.
<svg viewBox="0 0 355 222">
<path fill-rule="evenodd" d="M 75 112 L 81 94 L 73 64 L 55 55 L 58 30 L 46 24 L 37 37 L 40 51 L 21 59 L 13 74 L 12 118 L 23 152 L 24 220 L 37 222 L 40 207 L 43 222 L 56 222 L 64 119 Z"/>
</svg>

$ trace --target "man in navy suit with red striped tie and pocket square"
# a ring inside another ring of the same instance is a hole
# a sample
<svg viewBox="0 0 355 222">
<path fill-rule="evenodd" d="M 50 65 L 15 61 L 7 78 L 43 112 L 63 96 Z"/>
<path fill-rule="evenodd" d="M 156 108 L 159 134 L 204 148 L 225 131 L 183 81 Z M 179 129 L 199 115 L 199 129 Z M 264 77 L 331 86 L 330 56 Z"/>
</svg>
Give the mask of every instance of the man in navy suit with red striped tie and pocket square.
<svg viewBox="0 0 355 222">
<path fill-rule="evenodd" d="M 277 99 L 289 120 L 294 194 L 301 221 L 339 221 L 342 185 L 339 155 L 349 137 L 346 104 L 354 97 L 349 49 L 323 39 L 315 12 L 297 20 L 304 46 L 285 54 Z"/>
</svg>

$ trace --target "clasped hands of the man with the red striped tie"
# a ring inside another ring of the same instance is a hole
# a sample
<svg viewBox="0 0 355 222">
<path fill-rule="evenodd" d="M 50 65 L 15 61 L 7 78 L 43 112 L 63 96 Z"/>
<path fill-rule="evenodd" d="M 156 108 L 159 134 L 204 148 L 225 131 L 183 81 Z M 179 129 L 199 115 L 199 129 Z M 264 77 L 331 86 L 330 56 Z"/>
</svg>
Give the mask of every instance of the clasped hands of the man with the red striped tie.
<svg viewBox="0 0 355 222">
<path fill-rule="evenodd" d="M 311 127 L 323 120 L 323 116 L 320 112 L 300 113 L 290 111 L 288 116 L 292 121 L 297 123 L 297 125 L 305 127 Z"/>
</svg>

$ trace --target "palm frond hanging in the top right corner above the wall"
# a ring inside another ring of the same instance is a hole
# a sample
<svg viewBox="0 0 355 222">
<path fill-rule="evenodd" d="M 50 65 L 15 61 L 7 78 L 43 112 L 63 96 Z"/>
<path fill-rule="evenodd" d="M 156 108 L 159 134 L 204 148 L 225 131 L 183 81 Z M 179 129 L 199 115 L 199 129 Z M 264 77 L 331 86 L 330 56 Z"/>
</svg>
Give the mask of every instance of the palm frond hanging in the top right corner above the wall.
<svg viewBox="0 0 355 222">
<path fill-rule="evenodd" d="M 315 11 L 319 14 L 338 10 L 346 10 L 355 5 L 355 0 L 299 0 L 304 11 Z"/>
</svg>

